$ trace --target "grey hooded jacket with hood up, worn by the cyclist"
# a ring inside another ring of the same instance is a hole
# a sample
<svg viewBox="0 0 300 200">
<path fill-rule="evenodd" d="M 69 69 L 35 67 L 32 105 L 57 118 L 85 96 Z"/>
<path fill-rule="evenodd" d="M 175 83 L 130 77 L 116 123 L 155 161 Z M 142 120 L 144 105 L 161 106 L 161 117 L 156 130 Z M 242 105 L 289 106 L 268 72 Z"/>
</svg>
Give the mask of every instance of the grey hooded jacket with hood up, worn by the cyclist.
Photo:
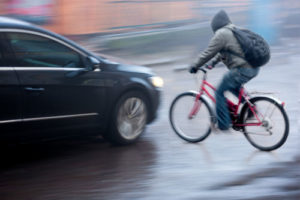
<svg viewBox="0 0 300 200">
<path fill-rule="evenodd" d="M 231 23 L 225 11 L 219 11 L 211 22 L 211 28 L 214 31 L 214 36 L 209 42 L 208 47 L 199 55 L 196 66 L 202 66 L 212 59 L 214 66 L 219 61 L 222 61 L 229 69 L 235 67 L 251 67 L 246 60 L 230 52 L 235 52 L 238 55 L 244 56 L 240 44 L 232 33 L 235 27 Z"/>
</svg>

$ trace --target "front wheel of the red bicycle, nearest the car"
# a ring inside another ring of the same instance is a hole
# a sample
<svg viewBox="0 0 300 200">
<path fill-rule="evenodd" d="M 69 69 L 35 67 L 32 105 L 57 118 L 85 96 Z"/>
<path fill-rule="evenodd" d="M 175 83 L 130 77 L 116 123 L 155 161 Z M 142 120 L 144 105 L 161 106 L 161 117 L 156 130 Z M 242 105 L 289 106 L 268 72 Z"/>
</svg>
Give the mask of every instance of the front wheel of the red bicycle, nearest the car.
<svg viewBox="0 0 300 200">
<path fill-rule="evenodd" d="M 169 112 L 170 123 L 175 133 L 188 142 L 200 142 L 208 137 L 213 122 L 213 112 L 208 103 L 199 99 L 199 107 L 195 115 L 196 94 L 186 92 L 178 95 L 172 102 Z"/>
</svg>

